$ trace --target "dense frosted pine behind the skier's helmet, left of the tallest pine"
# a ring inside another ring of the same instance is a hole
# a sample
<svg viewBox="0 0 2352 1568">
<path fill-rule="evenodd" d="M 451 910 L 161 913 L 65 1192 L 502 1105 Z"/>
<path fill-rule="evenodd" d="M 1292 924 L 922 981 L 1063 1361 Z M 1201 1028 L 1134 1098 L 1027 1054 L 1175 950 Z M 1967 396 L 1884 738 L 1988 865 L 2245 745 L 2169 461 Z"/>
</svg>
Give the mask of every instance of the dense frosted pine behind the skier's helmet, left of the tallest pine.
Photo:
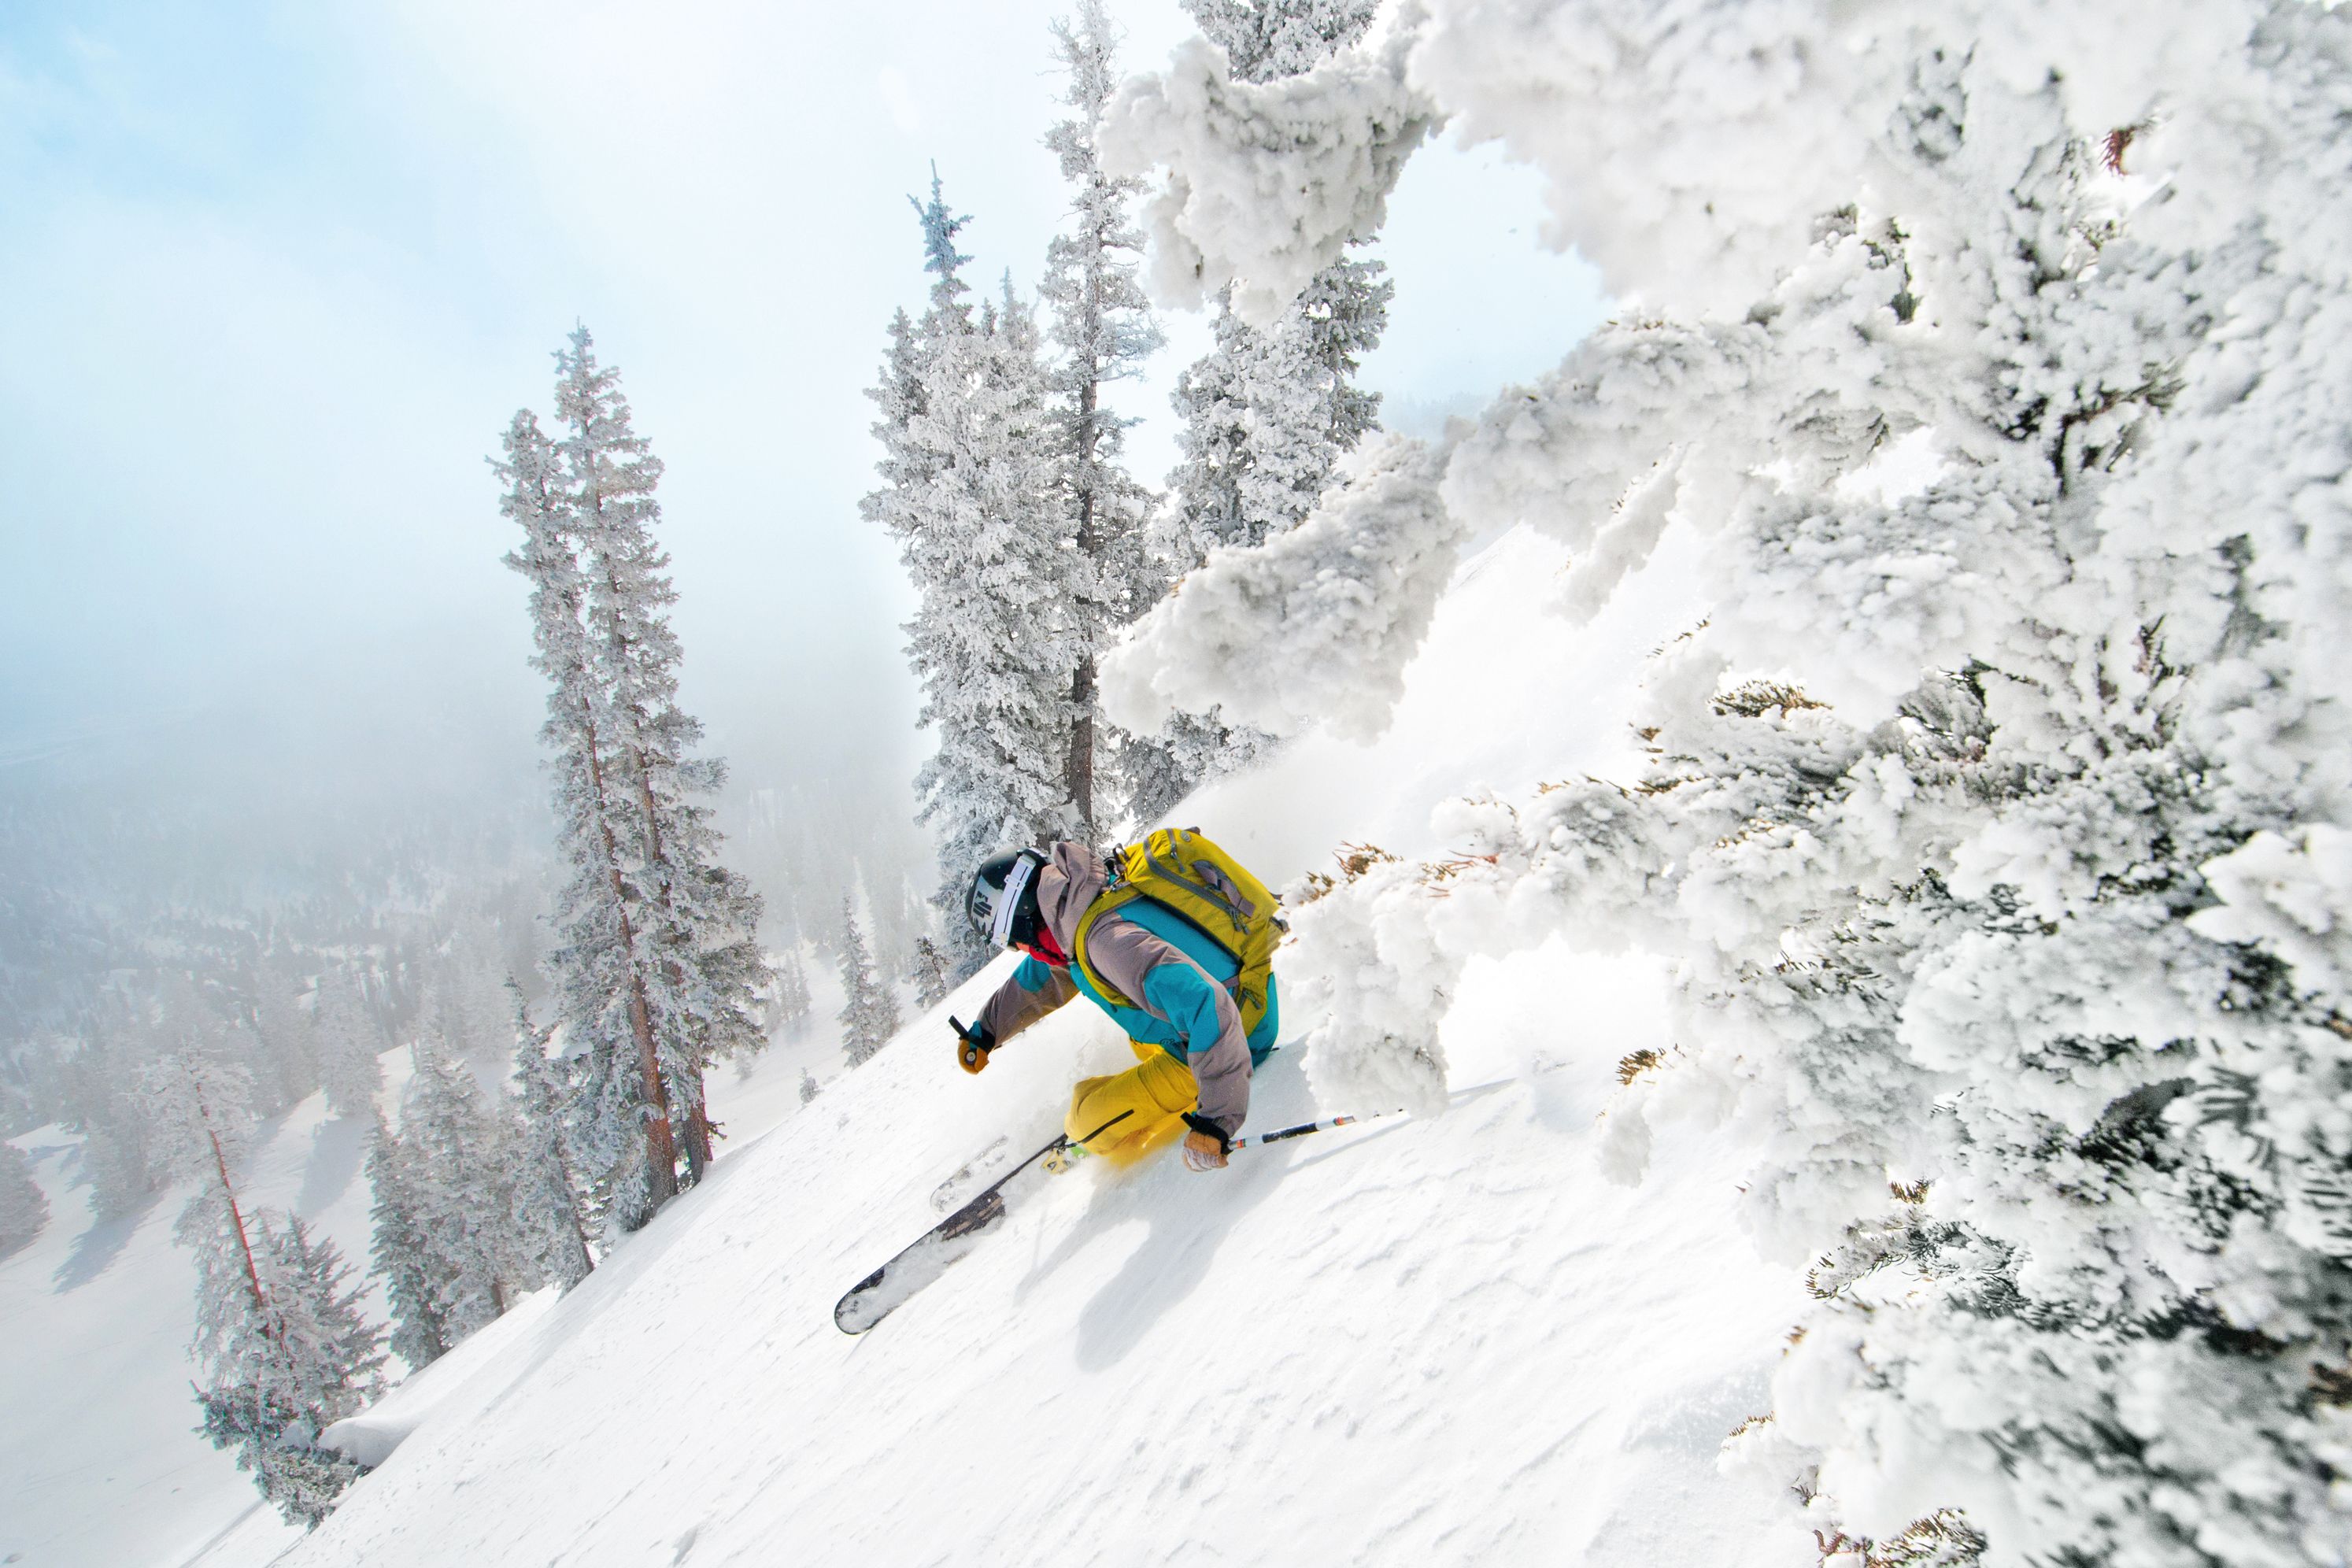
<svg viewBox="0 0 2352 1568">
<path fill-rule="evenodd" d="M 1063 571 L 1065 512 L 1037 324 L 1014 296 L 974 315 L 938 176 L 915 202 L 931 303 L 891 322 L 882 383 L 884 487 L 861 510 L 898 541 L 915 583 L 908 663 L 938 750 L 915 776 L 938 844 L 934 905 L 960 910 L 971 867 L 1004 844 L 1068 837 L 1070 682 L 1077 614 Z M 962 931 L 950 922 L 950 931 Z M 985 961 L 957 936 L 957 973 Z"/>
</svg>

